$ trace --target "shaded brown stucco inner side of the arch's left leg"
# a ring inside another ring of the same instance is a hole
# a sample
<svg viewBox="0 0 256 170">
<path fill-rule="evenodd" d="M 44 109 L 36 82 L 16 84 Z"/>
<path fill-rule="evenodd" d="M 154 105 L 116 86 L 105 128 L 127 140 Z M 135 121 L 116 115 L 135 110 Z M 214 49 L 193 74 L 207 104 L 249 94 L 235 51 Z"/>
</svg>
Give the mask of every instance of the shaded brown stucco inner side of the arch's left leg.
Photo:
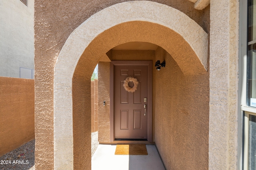
<svg viewBox="0 0 256 170">
<path fill-rule="evenodd" d="M 94 67 L 89 74 L 84 74 L 81 67 L 76 67 L 72 84 L 73 100 L 73 154 L 74 169 L 91 168 L 91 76 Z M 89 64 L 90 65 L 90 64 Z M 64 122 L 64 121 L 63 121 Z M 65 126 L 63 126 L 65 127 Z M 68 127 L 69 128 L 69 127 Z M 63 139 L 66 140 L 66 139 Z M 83 158 L 81 158 L 83 155 Z M 70 155 L 67 155 L 70 156 Z M 61 167 L 61 169 L 66 169 Z"/>
</svg>

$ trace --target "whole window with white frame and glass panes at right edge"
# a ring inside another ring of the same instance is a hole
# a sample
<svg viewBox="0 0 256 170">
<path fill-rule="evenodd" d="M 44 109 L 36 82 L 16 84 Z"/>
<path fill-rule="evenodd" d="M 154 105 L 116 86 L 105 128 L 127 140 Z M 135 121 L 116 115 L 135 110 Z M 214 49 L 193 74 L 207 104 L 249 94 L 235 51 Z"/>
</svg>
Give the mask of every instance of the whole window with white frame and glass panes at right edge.
<svg viewBox="0 0 256 170">
<path fill-rule="evenodd" d="M 243 0 L 242 6 L 242 169 L 256 170 L 256 0 Z"/>
</svg>

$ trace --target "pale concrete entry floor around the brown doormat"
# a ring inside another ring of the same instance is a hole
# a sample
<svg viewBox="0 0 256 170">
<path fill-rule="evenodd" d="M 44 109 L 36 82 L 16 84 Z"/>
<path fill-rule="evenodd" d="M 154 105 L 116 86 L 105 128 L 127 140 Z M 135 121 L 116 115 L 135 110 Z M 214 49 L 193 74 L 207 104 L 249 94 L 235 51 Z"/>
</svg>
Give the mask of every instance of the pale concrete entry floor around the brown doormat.
<svg viewBox="0 0 256 170">
<path fill-rule="evenodd" d="M 116 145 L 99 145 L 92 156 L 92 170 L 165 170 L 155 145 L 148 155 L 115 155 Z"/>
</svg>

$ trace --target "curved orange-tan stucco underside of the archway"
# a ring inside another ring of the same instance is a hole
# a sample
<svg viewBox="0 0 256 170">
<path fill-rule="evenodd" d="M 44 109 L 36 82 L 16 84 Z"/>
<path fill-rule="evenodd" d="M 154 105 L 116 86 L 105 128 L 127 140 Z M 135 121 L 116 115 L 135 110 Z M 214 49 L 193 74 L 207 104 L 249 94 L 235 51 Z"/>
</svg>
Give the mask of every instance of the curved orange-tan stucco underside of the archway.
<svg viewBox="0 0 256 170">
<path fill-rule="evenodd" d="M 81 63 L 92 63 L 93 61 L 90 60 L 94 60 L 95 57 L 102 61 L 102 56 L 106 56 L 104 54 L 113 47 L 129 49 L 130 47 L 125 47 L 125 45 L 130 44 L 131 46 L 136 42 L 152 43 L 155 45 L 154 47 L 162 47 L 174 58 L 184 74 L 193 75 L 206 72 L 204 64 L 180 34 L 163 25 L 147 21 L 120 23 L 102 32 L 85 49 L 76 69 L 85 67 L 79 66 Z M 94 59 L 90 57 L 91 54 Z"/>
</svg>

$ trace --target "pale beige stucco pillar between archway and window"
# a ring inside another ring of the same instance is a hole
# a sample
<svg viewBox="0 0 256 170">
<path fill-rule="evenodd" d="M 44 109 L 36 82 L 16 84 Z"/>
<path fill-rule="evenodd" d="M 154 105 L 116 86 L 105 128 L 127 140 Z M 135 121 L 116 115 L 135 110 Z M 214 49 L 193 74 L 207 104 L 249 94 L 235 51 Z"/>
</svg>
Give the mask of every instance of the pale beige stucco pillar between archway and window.
<svg viewBox="0 0 256 170">
<path fill-rule="evenodd" d="M 209 169 L 238 169 L 238 0 L 211 1 Z M 220 48 L 221 47 L 221 48 Z"/>
</svg>

